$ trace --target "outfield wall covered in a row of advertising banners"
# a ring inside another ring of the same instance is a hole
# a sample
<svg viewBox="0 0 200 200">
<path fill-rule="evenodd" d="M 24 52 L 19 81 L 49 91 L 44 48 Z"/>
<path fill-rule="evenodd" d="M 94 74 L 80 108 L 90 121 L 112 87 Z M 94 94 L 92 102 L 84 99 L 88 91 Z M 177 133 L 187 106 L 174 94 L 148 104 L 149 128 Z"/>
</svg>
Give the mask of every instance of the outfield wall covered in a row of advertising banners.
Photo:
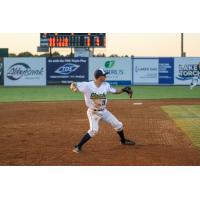
<svg viewBox="0 0 200 200">
<path fill-rule="evenodd" d="M 70 84 L 92 80 L 95 69 L 103 68 L 113 85 L 189 85 L 200 74 L 199 63 L 200 57 L 8 57 L 0 68 L 0 83 L 4 79 L 5 86 Z"/>
</svg>

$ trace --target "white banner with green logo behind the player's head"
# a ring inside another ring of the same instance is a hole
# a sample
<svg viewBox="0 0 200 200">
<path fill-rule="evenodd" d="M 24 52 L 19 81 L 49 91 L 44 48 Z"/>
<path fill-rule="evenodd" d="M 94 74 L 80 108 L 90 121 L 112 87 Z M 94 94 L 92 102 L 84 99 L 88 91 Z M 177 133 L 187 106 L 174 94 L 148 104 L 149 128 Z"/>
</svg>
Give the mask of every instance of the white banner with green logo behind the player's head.
<svg viewBox="0 0 200 200">
<path fill-rule="evenodd" d="M 131 85 L 132 83 L 131 58 L 90 58 L 89 80 L 94 79 L 94 71 L 97 68 L 102 68 L 109 73 L 106 80 L 113 85 Z"/>
</svg>

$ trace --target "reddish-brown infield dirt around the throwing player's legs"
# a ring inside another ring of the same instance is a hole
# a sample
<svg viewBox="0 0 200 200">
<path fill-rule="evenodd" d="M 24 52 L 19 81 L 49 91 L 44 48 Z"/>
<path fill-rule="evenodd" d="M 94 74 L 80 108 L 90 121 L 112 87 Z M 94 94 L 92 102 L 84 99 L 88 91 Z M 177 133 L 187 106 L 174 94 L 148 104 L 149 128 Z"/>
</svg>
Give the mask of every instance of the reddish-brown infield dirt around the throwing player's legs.
<svg viewBox="0 0 200 200">
<path fill-rule="evenodd" d="M 142 102 L 136 104 L 134 102 Z M 72 152 L 88 130 L 83 101 L 0 104 L 0 165 L 200 165 L 200 150 L 160 108 L 199 100 L 112 100 L 136 146 L 122 146 L 104 122 L 80 154 Z"/>
</svg>

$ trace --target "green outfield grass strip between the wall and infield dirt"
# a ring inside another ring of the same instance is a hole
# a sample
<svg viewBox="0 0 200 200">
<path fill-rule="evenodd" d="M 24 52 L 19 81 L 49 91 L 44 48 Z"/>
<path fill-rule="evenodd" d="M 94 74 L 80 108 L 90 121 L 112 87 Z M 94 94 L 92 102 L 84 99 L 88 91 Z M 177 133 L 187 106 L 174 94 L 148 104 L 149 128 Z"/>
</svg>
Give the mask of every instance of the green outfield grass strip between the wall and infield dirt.
<svg viewBox="0 0 200 200">
<path fill-rule="evenodd" d="M 118 87 L 119 88 L 119 87 Z M 127 99 L 126 94 L 109 95 L 109 99 Z M 192 99 L 200 98 L 200 87 L 135 86 L 134 99 Z M 72 93 L 67 86 L 0 87 L 0 102 L 82 100 L 83 95 Z"/>
</svg>

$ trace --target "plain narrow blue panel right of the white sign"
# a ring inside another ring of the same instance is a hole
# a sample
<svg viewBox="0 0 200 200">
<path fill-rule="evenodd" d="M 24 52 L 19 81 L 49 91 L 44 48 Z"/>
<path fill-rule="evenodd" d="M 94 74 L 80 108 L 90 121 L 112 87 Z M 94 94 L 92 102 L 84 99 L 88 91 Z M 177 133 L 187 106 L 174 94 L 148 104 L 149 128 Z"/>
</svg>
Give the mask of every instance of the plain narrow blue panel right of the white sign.
<svg viewBox="0 0 200 200">
<path fill-rule="evenodd" d="M 159 84 L 174 84 L 174 58 L 159 58 Z"/>
</svg>

